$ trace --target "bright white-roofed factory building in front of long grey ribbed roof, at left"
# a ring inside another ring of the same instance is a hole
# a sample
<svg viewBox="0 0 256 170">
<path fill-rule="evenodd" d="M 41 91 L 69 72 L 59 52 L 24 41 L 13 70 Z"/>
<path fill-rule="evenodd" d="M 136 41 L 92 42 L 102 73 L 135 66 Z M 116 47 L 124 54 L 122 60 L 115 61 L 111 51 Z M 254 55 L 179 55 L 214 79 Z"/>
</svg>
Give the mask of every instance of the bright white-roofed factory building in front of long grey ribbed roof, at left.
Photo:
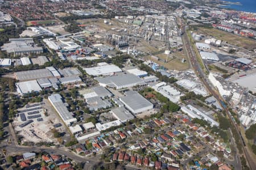
<svg viewBox="0 0 256 170">
<path fill-rule="evenodd" d="M 36 80 L 15 83 L 15 86 L 17 88 L 18 94 L 20 95 L 28 94 L 32 91 L 39 92 L 42 90 Z"/>
</svg>

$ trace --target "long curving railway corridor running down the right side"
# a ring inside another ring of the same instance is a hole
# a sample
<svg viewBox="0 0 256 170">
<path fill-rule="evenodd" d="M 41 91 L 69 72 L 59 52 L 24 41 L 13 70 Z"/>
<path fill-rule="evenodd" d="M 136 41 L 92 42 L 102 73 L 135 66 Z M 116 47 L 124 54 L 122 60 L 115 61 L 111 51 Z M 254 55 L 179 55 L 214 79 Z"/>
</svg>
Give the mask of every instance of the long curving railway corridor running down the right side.
<svg viewBox="0 0 256 170">
<path fill-rule="evenodd" d="M 191 65 L 193 67 L 193 69 L 195 70 L 195 73 L 197 74 L 197 76 L 199 76 L 199 78 L 201 79 L 201 81 L 204 83 L 204 86 L 207 88 L 207 90 L 210 92 L 210 94 L 212 94 L 217 100 L 218 103 L 221 104 L 221 107 L 224 109 L 224 111 L 227 113 L 229 120 L 232 122 L 232 125 L 234 126 L 234 128 L 236 129 L 237 134 L 239 135 L 239 140 L 242 143 L 242 151 L 243 151 L 243 155 L 245 156 L 245 159 L 247 160 L 247 164 L 249 165 L 249 168 L 254 170 L 256 169 L 256 164 L 255 164 L 255 160 L 253 160 L 249 154 L 249 152 L 247 151 L 247 147 L 246 144 L 243 140 L 243 137 L 240 133 L 240 128 L 238 127 L 238 125 L 236 124 L 236 122 L 233 120 L 232 115 L 230 114 L 230 112 L 228 111 L 228 108 L 223 104 L 222 101 L 224 101 L 224 99 L 222 99 L 222 97 L 209 85 L 207 78 L 204 71 L 202 70 L 199 61 L 197 61 L 197 57 L 195 54 L 195 50 L 193 50 L 192 45 L 191 45 L 191 41 L 189 40 L 189 37 L 187 35 L 186 32 L 186 26 L 183 23 L 183 36 L 182 36 L 182 40 L 183 40 L 183 44 L 184 44 L 184 49 L 185 52 L 187 53 L 189 62 L 191 62 Z M 241 169 L 241 166 L 240 166 Z"/>
</svg>

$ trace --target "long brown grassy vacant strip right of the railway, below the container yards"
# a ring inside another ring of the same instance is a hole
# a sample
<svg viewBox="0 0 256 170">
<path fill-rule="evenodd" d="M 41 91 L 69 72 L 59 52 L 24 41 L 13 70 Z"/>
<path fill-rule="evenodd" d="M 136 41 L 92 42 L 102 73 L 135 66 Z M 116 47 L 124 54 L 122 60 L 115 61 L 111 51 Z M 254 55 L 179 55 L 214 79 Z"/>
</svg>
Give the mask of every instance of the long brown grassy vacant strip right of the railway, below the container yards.
<svg viewBox="0 0 256 170">
<path fill-rule="evenodd" d="M 215 28 L 197 27 L 197 29 L 198 33 L 203 33 L 204 35 L 216 37 L 216 39 L 220 39 L 222 41 L 226 41 L 230 44 L 234 44 L 237 46 L 242 46 L 243 48 L 248 50 L 253 50 L 256 48 L 256 41 L 246 37 L 234 35 L 233 33 L 221 31 Z"/>
</svg>

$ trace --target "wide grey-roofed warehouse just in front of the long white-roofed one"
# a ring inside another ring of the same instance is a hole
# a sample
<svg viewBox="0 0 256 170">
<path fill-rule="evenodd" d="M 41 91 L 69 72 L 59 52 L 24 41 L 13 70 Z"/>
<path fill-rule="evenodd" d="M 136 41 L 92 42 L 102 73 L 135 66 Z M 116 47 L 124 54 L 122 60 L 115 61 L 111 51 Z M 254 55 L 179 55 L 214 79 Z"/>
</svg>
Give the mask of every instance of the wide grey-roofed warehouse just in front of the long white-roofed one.
<svg viewBox="0 0 256 170">
<path fill-rule="evenodd" d="M 137 85 L 146 86 L 146 83 L 141 78 L 138 78 L 138 76 L 135 76 L 133 74 L 107 76 L 104 78 L 97 77 L 95 79 L 100 83 L 100 86 L 111 87 L 117 90 Z"/>
</svg>

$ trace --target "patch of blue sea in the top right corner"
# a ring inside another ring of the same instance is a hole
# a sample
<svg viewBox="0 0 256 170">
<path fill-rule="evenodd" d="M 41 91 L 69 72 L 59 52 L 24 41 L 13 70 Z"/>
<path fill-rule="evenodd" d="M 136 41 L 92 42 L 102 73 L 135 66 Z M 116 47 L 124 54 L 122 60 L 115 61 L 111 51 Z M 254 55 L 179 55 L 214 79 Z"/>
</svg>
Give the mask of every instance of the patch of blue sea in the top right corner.
<svg viewBox="0 0 256 170">
<path fill-rule="evenodd" d="M 226 8 L 232 8 L 238 11 L 245 12 L 255 12 L 256 13 L 256 0 L 224 0 L 228 2 L 240 2 L 241 5 L 228 4 L 228 6 L 223 6 Z"/>
</svg>

